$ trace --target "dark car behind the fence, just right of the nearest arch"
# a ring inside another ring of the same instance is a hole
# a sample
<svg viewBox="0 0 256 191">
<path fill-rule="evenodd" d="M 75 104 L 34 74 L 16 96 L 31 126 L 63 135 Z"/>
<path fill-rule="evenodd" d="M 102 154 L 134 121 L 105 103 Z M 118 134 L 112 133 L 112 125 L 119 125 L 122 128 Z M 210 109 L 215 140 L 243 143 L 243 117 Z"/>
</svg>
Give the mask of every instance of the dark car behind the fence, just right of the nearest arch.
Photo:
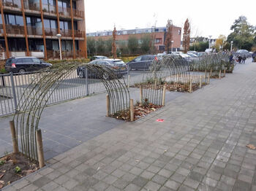
<svg viewBox="0 0 256 191">
<path fill-rule="evenodd" d="M 154 60 L 158 60 L 157 55 L 140 55 L 132 61 L 129 61 L 127 66 L 129 70 L 148 70 Z"/>
</svg>

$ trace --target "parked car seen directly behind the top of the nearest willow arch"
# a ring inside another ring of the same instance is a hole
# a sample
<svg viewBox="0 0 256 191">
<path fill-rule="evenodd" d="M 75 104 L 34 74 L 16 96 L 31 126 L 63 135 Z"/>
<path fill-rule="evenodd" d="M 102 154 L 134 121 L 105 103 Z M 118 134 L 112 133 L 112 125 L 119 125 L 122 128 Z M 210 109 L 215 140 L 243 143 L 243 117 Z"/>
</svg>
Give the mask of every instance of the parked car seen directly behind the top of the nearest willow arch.
<svg viewBox="0 0 256 191">
<path fill-rule="evenodd" d="M 89 62 L 89 64 L 96 64 L 99 66 L 105 66 L 110 69 L 114 69 L 114 73 L 117 77 L 122 77 L 125 74 L 127 74 L 127 65 L 124 63 L 124 61 L 120 59 L 96 59 L 94 61 Z M 77 69 L 78 77 L 85 78 L 86 77 L 86 67 L 85 66 L 79 66 Z M 91 78 L 99 78 L 99 74 L 95 71 L 88 71 L 88 77 Z M 108 74 L 103 74 L 104 79 L 110 79 L 110 76 Z"/>
</svg>

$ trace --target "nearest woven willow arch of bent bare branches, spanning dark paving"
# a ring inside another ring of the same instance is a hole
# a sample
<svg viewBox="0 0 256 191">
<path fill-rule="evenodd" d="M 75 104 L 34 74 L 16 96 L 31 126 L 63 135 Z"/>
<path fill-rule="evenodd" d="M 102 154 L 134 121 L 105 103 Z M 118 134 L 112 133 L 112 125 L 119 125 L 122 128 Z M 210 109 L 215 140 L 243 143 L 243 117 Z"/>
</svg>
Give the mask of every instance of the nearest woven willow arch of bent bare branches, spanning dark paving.
<svg viewBox="0 0 256 191">
<path fill-rule="evenodd" d="M 84 66 L 104 84 L 112 113 L 129 109 L 129 90 L 124 79 L 118 79 L 115 71 L 105 66 L 64 62 L 34 74 L 34 80 L 24 90 L 13 117 L 20 151 L 29 159 L 37 160 L 36 130 L 50 96 L 78 66 Z"/>
</svg>

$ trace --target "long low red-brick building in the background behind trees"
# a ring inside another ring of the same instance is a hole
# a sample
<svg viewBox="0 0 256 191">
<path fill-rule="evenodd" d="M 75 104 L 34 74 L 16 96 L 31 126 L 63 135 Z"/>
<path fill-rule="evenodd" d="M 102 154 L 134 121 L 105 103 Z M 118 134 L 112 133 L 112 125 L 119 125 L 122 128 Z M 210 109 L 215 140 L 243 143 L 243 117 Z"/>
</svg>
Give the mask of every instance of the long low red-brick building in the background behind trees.
<svg viewBox="0 0 256 191">
<path fill-rule="evenodd" d="M 166 27 L 151 27 L 151 28 L 135 28 L 129 30 L 118 30 L 116 36 L 116 44 L 118 42 L 128 42 L 129 36 L 133 35 L 140 41 L 143 35 L 151 34 L 154 37 L 154 46 L 158 52 L 165 50 Z M 181 27 L 173 26 L 173 51 L 179 51 L 181 47 Z M 94 39 L 108 40 L 112 37 L 113 31 L 97 31 L 94 33 L 87 33 L 86 36 L 91 36 Z"/>
</svg>

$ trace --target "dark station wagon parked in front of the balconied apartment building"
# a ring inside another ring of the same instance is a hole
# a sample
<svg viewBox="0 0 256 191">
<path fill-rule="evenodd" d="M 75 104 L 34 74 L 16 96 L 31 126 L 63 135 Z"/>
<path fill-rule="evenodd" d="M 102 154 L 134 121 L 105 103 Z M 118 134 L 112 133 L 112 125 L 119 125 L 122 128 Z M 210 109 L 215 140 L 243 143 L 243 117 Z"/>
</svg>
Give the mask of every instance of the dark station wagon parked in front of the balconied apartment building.
<svg viewBox="0 0 256 191">
<path fill-rule="evenodd" d="M 45 63 L 35 57 L 15 57 L 7 59 L 5 70 L 13 73 L 23 73 L 26 71 L 37 71 L 52 66 L 51 63 Z"/>
</svg>

